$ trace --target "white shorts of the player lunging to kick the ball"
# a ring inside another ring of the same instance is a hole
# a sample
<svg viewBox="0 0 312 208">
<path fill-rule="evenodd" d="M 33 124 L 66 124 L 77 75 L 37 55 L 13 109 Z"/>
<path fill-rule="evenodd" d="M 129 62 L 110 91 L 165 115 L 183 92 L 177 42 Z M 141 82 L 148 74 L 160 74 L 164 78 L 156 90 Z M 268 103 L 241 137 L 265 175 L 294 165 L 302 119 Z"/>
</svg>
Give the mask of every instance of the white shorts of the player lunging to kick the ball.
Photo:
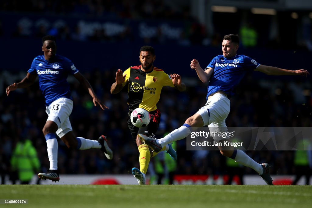
<svg viewBox="0 0 312 208">
<path fill-rule="evenodd" d="M 197 114 L 202 116 L 204 121 L 204 126 L 209 127 L 211 132 L 227 132 L 227 126 L 225 124 L 225 119 L 230 113 L 231 104 L 230 100 L 226 95 L 216 93 L 212 95 L 207 103 L 197 111 Z M 218 142 L 222 137 L 213 137 L 213 139 Z"/>
</svg>

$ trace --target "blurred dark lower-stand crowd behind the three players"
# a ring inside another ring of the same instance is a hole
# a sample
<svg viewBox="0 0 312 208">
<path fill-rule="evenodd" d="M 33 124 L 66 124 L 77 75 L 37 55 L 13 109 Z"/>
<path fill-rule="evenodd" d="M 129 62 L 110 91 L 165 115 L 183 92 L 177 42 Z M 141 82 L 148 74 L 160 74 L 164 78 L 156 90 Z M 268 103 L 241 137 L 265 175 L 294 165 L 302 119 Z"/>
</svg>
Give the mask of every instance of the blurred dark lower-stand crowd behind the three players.
<svg viewBox="0 0 312 208">
<path fill-rule="evenodd" d="M 77 81 L 70 79 L 74 109 L 71 124 L 76 136 L 97 139 L 107 136 L 114 151 L 109 161 L 97 149 L 71 150 L 59 139 L 58 166 L 66 174 L 131 174 L 132 167 L 139 167 L 139 152 L 127 127 L 127 92 L 110 94 L 115 82 L 116 69 L 94 70 L 84 74 L 96 94 L 109 110 L 94 107 L 90 95 Z M 254 72 L 255 73 L 255 72 Z M 296 77 L 295 77 L 296 78 Z M 19 78 L 20 79 L 20 78 Z M 186 92 L 163 88 L 158 108 L 161 123 L 157 137 L 181 126 L 184 121 L 205 104 L 206 85 L 185 78 Z M 300 80 L 300 78 L 298 78 Z M 18 80 L 16 80 L 18 81 Z M 4 82 L 3 87 L 9 83 Z M 5 88 L 4 88 L 5 89 Z M 231 113 L 227 126 L 311 126 L 311 84 L 297 81 L 258 80 L 248 74 L 231 98 Z M 260 101 L 261 100 L 261 101 Z M 46 122 L 44 98 L 38 83 L 19 89 L 10 96 L 0 97 L 0 164 L 1 174 L 10 171 L 10 158 L 16 143 L 22 138 L 32 141 L 37 150 L 41 170 L 49 168 L 46 142 L 41 129 Z M 178 161 L 175 174 L 227 174 L 226 157 L 218 151 L 186 151 L 186 141 L 177 142 Z M 247 151 L 259 163 L 274 165 L 273 174 L 294 174 L 295 151 Z M 255 174 L 251 168 L 244 173 Z"/>
</svg>

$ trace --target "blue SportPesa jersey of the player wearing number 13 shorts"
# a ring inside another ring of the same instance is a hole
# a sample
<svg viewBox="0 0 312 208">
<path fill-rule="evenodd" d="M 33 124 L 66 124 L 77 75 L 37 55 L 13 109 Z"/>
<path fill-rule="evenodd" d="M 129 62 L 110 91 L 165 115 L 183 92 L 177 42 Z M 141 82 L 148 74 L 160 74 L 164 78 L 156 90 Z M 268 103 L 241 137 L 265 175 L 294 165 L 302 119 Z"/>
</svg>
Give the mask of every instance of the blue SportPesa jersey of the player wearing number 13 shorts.
<svg viewBox="0 0 312 208">
<path fill-rule="evenodd" d="M 46 98 L 46 105 L 50 105 L 59 98 L 71 97 L 67 76 L 78 72 L 71 60 L 64 56 L 55 55 L 53 61 L 47 61 L 44 56 L 37 56 L 30 69 L 31 74 L 37 74 L 39 77 L 39 87 Z"/>
</svg>

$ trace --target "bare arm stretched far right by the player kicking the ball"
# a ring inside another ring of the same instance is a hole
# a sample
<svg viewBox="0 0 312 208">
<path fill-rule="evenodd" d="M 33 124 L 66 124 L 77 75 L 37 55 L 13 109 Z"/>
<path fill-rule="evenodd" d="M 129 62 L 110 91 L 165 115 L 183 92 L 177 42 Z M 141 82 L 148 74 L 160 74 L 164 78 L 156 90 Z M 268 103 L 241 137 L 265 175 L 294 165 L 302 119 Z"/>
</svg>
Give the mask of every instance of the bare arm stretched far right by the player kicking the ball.
<svg viewBox="0 0 312 208">
<path fill-rule="evenodd" d="M 300 69 L 300 70 L 287 70 L 287 69 L 280 69 L 274 66 L 266 66 L 260 65 L 255 71 L 260 71 L 267 75 L 300 75 L 307 77 L 310 73 L 307 70 Z"/>
</svg>

